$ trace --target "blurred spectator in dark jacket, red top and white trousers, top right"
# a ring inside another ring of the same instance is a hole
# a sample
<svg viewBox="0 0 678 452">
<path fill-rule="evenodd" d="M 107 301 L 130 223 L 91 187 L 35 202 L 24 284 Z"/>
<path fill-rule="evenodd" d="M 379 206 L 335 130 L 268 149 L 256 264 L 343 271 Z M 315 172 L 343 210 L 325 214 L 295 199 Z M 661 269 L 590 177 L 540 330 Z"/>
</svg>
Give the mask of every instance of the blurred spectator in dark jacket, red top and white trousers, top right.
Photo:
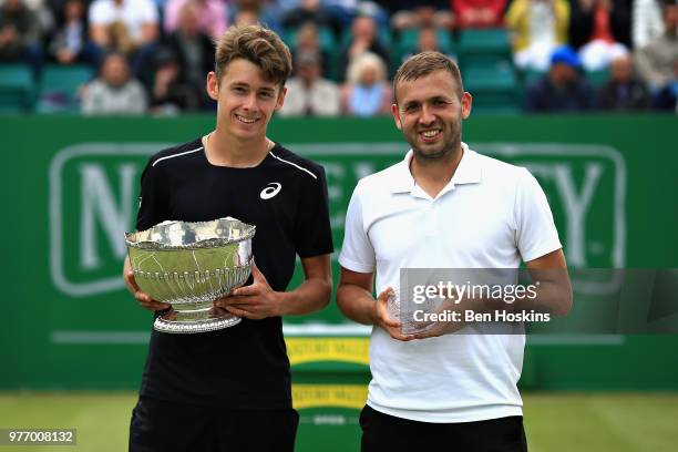
<svg viewBox="0 0 678 452">
<path fill-rule="evenodd" d="M 630 47 L 631 0 L 574 0 L 569 43 L 587 71 L 607 69 L 612 59 Z"/>
</svg>

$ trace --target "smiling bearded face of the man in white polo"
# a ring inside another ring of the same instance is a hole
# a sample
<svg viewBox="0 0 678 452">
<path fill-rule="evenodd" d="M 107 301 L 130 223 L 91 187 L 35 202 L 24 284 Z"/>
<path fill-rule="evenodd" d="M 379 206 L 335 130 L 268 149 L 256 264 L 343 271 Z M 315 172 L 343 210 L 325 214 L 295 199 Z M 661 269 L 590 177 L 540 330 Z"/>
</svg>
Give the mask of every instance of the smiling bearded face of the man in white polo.
<svg viewBox="0 0 678 452">
<path fill-rule="evenodd" d="M 452 75 L 444 70 L 396 86 L 396 125 L 420 158 L 445 158 L 460 148 L 462 121 L 471 114 L 471 94 L 461 99 Z"/>
</svg>

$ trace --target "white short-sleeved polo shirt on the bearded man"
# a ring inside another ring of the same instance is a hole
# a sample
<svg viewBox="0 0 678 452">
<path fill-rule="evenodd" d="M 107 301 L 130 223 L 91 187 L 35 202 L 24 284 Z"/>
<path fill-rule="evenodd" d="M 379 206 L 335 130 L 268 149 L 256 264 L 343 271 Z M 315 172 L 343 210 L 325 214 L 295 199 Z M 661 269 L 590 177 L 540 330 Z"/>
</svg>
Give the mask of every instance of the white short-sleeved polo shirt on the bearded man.
<svg viewBox="0 0 678 452">
<path fill-rule="evenodd" d="M 342 267 L 376 271 L 377 294 L 401 268 L 517 268 L 562 248 L 546 196 L 523 167 L 469 150 L 435 198 L 404 161 L 362 178 L 349 204 Z M 368 404 L 423 422 L 522 415 L 523 335 L 446 335 L 409 342 L 372 329 Z"/>
</svg>

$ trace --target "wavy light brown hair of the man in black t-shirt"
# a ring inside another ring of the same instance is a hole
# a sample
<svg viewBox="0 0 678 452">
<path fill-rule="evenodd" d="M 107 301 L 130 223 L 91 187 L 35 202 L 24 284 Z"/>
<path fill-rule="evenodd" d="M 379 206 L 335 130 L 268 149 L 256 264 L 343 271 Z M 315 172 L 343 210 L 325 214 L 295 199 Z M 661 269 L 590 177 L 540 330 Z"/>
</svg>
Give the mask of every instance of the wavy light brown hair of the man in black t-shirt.
<svg viewBox="0 0 678 452">
<path fill-rule="evenodd" d="M 228 63 L 237 59 L 258 65 L 266 81 L 280 86 L 291 73 L 289 49 L 280 37 L 261 25 L 234 25 L 217 40 L 215 72 L 219 83 Z"/>
</svg>

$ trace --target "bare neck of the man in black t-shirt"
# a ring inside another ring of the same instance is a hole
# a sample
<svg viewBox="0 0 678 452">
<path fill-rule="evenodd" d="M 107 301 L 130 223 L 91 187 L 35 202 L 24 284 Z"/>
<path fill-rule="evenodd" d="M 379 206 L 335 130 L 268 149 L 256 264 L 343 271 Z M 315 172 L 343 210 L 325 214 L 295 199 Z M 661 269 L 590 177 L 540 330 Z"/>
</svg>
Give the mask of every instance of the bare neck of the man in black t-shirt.
<svg viewBox="0 0 678 452">
<path fill-rule="evenodd" d="M 274 143 L 265 135 L 251 140 L 240 140 L 217 129 L 203 138 L 205 154 L 213 165 L 249 168 L 266 158 Z"/>
</svg>

